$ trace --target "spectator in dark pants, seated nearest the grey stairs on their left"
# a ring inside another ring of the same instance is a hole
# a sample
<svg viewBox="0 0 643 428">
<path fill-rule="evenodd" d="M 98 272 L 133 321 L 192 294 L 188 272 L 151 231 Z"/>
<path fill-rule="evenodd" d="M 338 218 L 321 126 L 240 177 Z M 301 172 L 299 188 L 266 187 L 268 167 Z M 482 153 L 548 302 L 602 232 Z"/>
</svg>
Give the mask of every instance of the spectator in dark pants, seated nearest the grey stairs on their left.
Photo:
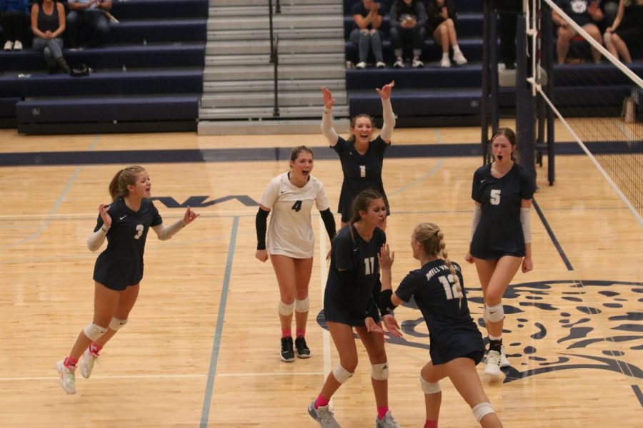
<svg viewBox="0 0 643 428">
<path fill-rule="evenodd" d="M 109 32 L 109 16 L 106 13 L 111 10 L 111 0 L 69 0 L 69 9 L 67 33 L 72 48 L 97 45 Z M 83 29 L 91 31 L 91 36 L 85 41 L 79 40 Z"/>
</svg>

